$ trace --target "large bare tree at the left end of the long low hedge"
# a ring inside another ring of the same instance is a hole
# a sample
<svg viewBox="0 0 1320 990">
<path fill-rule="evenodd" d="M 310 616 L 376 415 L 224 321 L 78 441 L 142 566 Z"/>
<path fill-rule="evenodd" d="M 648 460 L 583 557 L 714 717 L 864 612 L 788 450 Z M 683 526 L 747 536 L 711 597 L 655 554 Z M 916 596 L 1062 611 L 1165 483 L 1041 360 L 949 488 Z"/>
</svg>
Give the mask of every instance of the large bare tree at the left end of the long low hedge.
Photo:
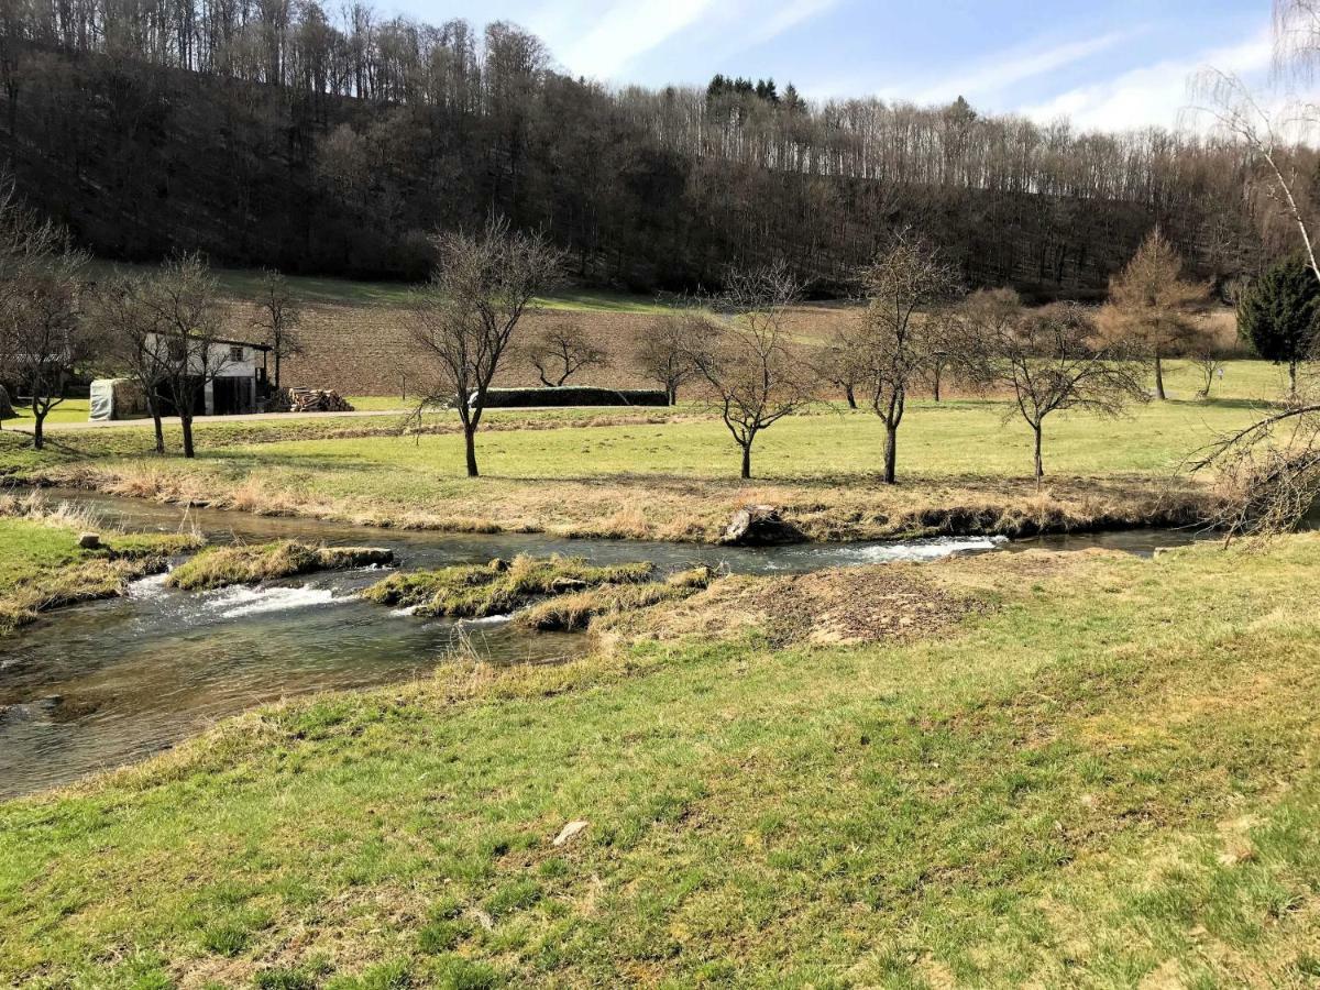
<svg viewBox="0 0 1320 990">
<path fill-rule="evenodd" d="M 519 321 L 560 279 L 564 256 L 539 234 L 491 218 L 477 234 L 438 234 L 436 271 L 413 297 L 413 338 L 434 380 L 417 408 L 453 403 L 463 425 L 467 477 L 477 478 L 477 428 Z"/>
</svg>

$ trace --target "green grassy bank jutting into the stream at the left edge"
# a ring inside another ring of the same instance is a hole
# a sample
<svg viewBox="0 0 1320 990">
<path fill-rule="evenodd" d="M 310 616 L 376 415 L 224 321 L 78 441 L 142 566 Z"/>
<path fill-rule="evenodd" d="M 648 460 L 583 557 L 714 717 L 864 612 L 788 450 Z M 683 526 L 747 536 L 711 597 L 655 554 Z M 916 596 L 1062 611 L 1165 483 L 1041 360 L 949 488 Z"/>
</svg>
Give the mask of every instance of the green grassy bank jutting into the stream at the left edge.
<svg viewBox="0 0 1320 990">
<path fill-rule="evenodd" d="M 96 548 L 78 545 L 88 528 L 102 537 Z M 172 557 L 199 545 L 186 535 L 104 531 L 40 496 L 0 495 L 0 638 L 42 612 L 121 595 L 129 582 L 164 572 Z"/>
</svg>

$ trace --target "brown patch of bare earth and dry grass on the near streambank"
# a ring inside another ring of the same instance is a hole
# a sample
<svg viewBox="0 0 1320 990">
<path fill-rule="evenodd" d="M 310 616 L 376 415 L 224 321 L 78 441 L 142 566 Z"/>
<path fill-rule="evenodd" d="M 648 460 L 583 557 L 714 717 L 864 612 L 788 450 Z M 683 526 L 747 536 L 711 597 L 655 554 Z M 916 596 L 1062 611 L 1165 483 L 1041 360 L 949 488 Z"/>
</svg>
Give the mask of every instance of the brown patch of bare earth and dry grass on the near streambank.
<svg viewBox="0 0 1320 990">
<path fill-rule="evenodd" d="M 624 636 L 727 638 L 759 630 L 775 645 L 908 642 L 933 636 L 991 607 L 894 564 L 777 578 L 733 577 L 644 614 L 620 616 Z"/>
</svg>

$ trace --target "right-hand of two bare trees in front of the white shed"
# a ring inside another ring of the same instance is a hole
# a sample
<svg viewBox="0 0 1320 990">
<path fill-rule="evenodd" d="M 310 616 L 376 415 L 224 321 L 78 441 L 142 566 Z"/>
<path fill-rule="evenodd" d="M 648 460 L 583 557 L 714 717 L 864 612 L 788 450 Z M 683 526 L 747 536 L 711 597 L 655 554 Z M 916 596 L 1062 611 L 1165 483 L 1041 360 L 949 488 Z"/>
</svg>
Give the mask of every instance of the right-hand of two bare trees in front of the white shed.
<svg viewBox="0 0 1320 990">
<path fill-rule="evenodd" d="M 154 333 L 164 339 L 162 380 L 183 428 L 183 457 L 191 458 L 193 420 L 205 407 L 207 385 L 228 363 L 219 342 L 219 286 L 202 256 L 191 253 L 161 265 L 145 290 Z"/>
</svg>

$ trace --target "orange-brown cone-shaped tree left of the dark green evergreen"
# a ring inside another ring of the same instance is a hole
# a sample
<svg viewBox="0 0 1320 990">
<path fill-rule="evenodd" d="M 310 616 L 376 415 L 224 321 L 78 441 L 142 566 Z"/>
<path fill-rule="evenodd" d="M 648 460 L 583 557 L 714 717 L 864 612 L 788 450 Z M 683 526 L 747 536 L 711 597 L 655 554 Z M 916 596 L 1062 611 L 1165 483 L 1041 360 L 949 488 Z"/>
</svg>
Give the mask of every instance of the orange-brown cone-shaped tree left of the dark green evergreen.
<svg viewBox="0 0 1320 990">
<path fill-rule="evenodd" d="M 1159 227 L 1142 242 L 1122 275 L 1109 284 L 1109 304 L 1100 313 L 1106 337 L 1146 354 L 1155 364 L 1155 397 L 1166 399 L 1164 360 L 1191 350 L 1201 327 L 1193 310 L 1209 286 L 1184 281 L 1183 259 Z"/>
</svg>

